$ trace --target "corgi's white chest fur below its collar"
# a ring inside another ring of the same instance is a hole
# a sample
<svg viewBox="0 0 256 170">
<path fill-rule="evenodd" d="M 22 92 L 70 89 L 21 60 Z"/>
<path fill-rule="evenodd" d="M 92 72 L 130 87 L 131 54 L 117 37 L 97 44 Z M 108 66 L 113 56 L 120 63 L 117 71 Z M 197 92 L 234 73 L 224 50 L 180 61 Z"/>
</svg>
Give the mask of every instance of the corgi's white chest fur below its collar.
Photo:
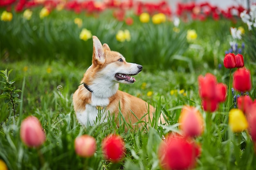
<svg viewBox="0 0 256 170">
<path fill-rule="evenodd" d="M 100 123 L 105 122 L 108 113 L 105 108 L 109 104 L 108 98 L 99 98 L 92 94 L 92 103 L 85 105 L 85 110 L 81 112 L 76 112 L 76 117 L 80 124 L 83 126 L 92 126 L 95 124 L 98 117 Z M 101 109 L 99 109 L 101 108 Z M 99 110 L 98 110 L 99 109 Z M 100 116 L 100 117 L 99 117 Z"/>
</svg>

